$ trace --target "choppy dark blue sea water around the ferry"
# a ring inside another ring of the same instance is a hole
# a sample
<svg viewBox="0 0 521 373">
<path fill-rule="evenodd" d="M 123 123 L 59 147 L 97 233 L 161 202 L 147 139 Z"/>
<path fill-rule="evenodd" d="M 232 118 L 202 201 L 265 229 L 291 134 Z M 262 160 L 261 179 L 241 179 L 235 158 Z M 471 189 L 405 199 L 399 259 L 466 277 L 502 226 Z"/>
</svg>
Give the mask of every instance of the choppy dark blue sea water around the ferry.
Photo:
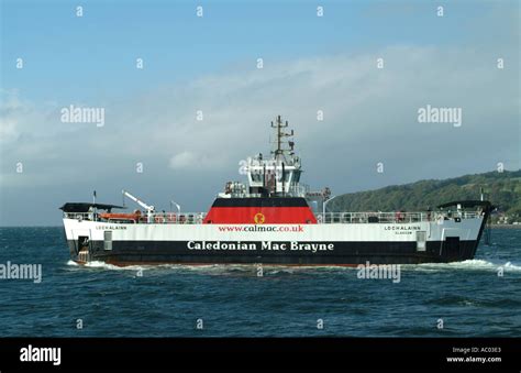
<svg viewBox="0 0 521 373">
<path fill-rule="evenodd" d="M 350 267 L 79 266 L 60 227 L 0 228 L 8 262 L 41 278 L 0 278 L 0 337 L 521 337 L 521 230 L 492 230 L 470 261 L 401 265 L 399 282 Z"/>
</svg>

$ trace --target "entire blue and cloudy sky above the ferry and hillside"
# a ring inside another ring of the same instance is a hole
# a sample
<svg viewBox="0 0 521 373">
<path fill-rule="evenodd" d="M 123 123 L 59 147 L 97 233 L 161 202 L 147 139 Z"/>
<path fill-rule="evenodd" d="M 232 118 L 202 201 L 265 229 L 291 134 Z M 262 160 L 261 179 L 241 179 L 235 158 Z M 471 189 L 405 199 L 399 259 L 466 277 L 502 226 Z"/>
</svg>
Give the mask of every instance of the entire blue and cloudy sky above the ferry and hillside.
<svg viewBox="0 0 521 373">
<path fill-rule="evenodd" d="M 302 182 L 334 195 L 520 168 L 519 1 L 0 0 L 0 226 L 58 226 L 64 202 L 123 188 L 206 211 L 278 114 Z M 103 125 L 64 121 L 70 106 Z M 419 121 L 428 106 L 461 125 Z"/>
</svg>

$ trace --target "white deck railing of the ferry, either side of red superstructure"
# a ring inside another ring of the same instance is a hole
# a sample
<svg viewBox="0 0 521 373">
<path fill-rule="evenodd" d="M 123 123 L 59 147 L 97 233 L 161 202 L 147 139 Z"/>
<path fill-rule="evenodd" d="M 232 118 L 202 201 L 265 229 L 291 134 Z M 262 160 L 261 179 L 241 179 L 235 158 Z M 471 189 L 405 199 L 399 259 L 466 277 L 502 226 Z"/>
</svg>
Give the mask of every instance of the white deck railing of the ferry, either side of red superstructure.
<svg viewBox="0 0 521 373">
<path fill-rule="evenodd" d="M 155 212 L 144 213 L 140 218 L 101 219 L 95 212 L 64 212 L 64 218 L 76 220 L 95 220 L 113 223 L 163 223 L 163 224 L 200 224 L 206 212 Z M 478 211 L 432 211 L 432 212 L 325 212 L 315 213 L 317 221 L 322 224 L 344 223 L 413 223 L 453 219 L 476 219 Z M 267 222 L 269 224 L 269 222 Z"/>
</svg>

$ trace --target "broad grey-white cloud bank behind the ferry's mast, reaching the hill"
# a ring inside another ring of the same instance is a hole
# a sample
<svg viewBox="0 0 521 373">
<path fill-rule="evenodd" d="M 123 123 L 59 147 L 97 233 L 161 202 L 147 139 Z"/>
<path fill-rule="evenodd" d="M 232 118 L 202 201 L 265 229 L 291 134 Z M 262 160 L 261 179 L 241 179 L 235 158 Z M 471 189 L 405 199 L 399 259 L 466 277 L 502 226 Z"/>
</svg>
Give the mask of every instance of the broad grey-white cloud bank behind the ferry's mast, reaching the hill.
<svg viewBox="0 0 521 373">
<path fill-rule="evenodd" d="M 118 190 L 136 185 L 154 196 L 163 193 L 154 188 L 166 190 L 182 176 L 181 197 L 211 199 L 224 177 L 241 179 L 240 160 L 269 151 L 269 121 L 277 114 L 296 131 L 308 182 L 339 193 L 492 169 L 497 162 L 519 168 L 519 62 L 512 57 L 512 67 L 499 70 L 489 55 L 400 45 L 266 61 L 263 69 L 253 65 L 114 97 L 103 105 L 103 128 L 59 121 L 62 107 L 80 103 L 30 102 L 19 91 L 2 91 L 0 185 L 54 185 L 68 199 L 70 185 L 89 180 Z M 426 105 L 462 108 L 462 127 L 419 123 L 418 109 Z M 14 174 L 19 161 L 25 178 Z M 145 164 L 143 179 L 137 162 Z M 375 172 L 378 162 L 384 176 Z"/>
</svg>

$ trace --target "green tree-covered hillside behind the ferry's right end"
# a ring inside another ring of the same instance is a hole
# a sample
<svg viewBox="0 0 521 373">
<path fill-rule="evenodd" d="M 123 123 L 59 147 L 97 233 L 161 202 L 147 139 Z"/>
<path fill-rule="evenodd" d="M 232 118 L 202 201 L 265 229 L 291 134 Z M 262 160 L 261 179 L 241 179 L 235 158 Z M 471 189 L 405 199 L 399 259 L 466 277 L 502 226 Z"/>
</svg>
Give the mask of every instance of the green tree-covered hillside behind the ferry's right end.
<svg viewBox="0 0 521 373">
<path fill-rule="evenodd" d="M 329 211 L 424 210 L 457 199 L 485 199 L 492 202 L 509 221 L 521 221 L 521 171 L 465 175 L 444 180 L 420 180 L 381 189 L 350 193 L 336 197 Z M 496 219 L 497 220 L 497 217 Z"/>
</svg>

